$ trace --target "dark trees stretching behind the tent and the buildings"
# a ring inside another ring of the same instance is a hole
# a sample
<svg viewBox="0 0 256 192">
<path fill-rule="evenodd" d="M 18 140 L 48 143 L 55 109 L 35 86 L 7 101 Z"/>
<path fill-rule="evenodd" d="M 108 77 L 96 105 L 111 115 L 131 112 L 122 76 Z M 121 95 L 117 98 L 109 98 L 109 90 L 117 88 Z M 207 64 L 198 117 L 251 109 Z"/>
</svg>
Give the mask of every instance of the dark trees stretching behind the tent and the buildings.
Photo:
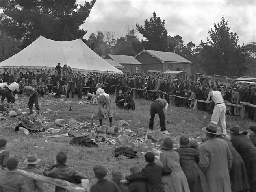
<svg viewBox="0 0 256 192">
<path fill-rule="evenodd" d="M 115 39 L 112 31 L 97 31 L 83 39 L 87 30 L 80 26 L 89 16 L 95 0 L 76 4 L 76 0 L 22 1 L 0 0 L 0 61 L 28 46 L 39 35 L 56 41 L 81 38 L 96 54 L 131 55 L 143 48 L 175 52 L 192 62 L 192 72 L 224 76 L 256 76 L 256 44 L 239 44 L 239 36 L 230 30 L 224 16 L 208 30 L 206 41 L 187 44 L 182 36 L 170 36 L 155 12 L 136 28 L 127 26 L 126 35 Z M 140 40 L 136 33 L 143 35 Z"/>
</svg>

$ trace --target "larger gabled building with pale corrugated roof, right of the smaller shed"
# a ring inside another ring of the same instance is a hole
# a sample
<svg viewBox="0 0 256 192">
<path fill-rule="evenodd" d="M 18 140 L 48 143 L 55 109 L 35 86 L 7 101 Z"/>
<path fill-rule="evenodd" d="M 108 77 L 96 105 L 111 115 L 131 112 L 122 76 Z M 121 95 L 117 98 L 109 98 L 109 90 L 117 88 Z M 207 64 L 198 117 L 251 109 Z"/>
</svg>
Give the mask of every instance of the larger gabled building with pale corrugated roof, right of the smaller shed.
<svg viewBox="0 0 256 192">
<path fill-rule="evenodd" d="M 191 61 L 172 52 L 142 50 L 135 58 L 142 63 L 142 71 L 145 73 L 148 70 L 169 70 L 191 74 Z"/>
</svg>

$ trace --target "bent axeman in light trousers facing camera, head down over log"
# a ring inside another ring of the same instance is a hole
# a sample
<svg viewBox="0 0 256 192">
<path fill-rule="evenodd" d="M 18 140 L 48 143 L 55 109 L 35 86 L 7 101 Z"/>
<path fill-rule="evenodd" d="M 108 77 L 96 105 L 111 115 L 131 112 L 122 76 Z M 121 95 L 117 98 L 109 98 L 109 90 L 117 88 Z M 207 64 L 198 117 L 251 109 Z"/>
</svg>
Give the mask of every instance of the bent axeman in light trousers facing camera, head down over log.
<svg viewBox="0 0 256 192">
<path fill-rule="evenodd" d="M 106 109 L 104 110 L 105 106 L 106 106 Z M 106 119 L 106 118 L 109 119 L 110 127 L 112 127 L 113 113 L 111 111 L 111 100 L 110 100 L 109 94 L 102 93 L 98 97 L 98 119 L 100 121 L 100 124 L 98 125 L 98 127 L 102 126 L 102 119 Z"/>
</svg>

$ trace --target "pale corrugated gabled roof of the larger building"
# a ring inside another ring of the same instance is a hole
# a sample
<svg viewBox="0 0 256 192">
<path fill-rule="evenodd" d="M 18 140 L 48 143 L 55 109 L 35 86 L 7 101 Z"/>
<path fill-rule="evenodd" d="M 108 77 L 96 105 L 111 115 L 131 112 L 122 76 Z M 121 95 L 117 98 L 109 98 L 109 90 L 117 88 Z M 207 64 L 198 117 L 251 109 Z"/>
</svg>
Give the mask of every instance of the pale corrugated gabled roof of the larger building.
<svg viewBox="0 0 256 192">
<path fill-rule="evenodd" d="M 162 63 L 189 63 L 189 64 L 192 63 L 191 61 L 173 52 L 142 50 L 134 57 L 136 58 L 137 56 L 141 55 L 144 52 L 160 60 Z"/>
</svg>

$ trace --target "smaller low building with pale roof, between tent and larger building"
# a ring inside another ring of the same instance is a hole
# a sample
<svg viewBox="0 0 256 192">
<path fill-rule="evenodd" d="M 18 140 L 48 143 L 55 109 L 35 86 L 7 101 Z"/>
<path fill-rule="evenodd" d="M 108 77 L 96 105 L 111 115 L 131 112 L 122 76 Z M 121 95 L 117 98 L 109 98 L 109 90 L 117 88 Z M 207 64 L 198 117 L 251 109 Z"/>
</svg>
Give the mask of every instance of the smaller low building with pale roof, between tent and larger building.
<svg viewBox="0 0 256 192">
<path fill-rule="evenodd" d="M 104 59 L 112 59 L 116 63 L 124 66 L 124 68 L 118 68 L 122 72 L 129 72 L 130 74 L 141 73 L 141 63 L 133 56 L 128 55 L 107 55 Z"/>
</svg>

